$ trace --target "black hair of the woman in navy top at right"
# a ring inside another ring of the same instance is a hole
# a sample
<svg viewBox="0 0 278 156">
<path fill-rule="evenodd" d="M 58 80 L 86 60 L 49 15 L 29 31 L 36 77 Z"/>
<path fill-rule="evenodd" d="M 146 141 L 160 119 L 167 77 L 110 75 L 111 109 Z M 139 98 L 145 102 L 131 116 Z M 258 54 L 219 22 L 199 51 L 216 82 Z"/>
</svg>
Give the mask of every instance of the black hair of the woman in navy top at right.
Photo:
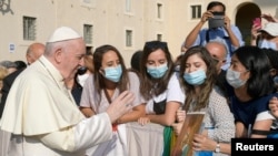
<svg viewBox="0 0 278 156">
<path fill-rule="evenodd" d="M 247 93 L 257 98 L 275 91 L 275 84 L 270 75 L 270 62 L 266 53 L 258 46 L 244 45 L 238 48 L 234 55 L 250 72 L 250 79 L 246 82 Z"/>
</svg>

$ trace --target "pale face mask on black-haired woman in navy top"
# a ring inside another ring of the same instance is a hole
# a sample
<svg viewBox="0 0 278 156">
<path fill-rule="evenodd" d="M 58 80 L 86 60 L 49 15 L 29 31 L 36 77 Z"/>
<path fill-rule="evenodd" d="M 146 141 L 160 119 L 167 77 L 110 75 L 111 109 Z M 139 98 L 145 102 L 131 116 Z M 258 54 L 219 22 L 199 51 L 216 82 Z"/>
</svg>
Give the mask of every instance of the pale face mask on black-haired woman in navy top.
<svg viewBox="0 0 278 156">
<path fill-rule="evenodd" d="M 227 70 L 226 80 L 234 89 L 238 89 L 246 83 L 246 81 L 240 79 L 240 72 L 232 71 L 231 69 Z"/>
</svg>

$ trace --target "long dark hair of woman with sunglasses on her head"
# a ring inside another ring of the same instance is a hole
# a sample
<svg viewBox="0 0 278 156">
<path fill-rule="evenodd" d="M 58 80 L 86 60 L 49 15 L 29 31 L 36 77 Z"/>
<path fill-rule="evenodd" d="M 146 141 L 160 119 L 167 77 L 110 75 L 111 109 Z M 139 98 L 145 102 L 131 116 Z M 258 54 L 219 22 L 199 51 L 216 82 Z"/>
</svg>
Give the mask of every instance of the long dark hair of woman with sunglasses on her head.
<svg viewBox="0 0 278 156">
<path fill-rule="evenodd" d="M 147 73 L 146 64 L 147 64 L 148 56 L 150 55 L 150 53 L 159 49 L 162 50 L 165 53 L 165 56 L 167 59 L 168 71 L 161 79 L 152 79 Z M 159 95 L 163 93 L 167 90 L 167 85 L 172 75 L 172 72 L 173 72 L 173 62 L 172 62 L 171 53 L 168 50 L 167 42 L 161 42 L 161 41 L 146 42 L 143 46 L 143 52 L 141 55 L 141 62 L 140 62 L 140 73 L 142 76 L 140 92 L 142 96 L 146 100 L 149 100 L 152 97 L 152 95 Z M 155 85 L 156 87 L 153 87 Z"/>
</svg>

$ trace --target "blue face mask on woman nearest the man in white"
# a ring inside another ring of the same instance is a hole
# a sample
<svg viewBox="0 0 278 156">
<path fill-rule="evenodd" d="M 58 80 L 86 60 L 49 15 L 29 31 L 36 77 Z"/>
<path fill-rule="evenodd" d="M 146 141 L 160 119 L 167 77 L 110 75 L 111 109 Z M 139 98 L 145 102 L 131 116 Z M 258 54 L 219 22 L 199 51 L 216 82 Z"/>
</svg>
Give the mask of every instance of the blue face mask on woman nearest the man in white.
<svg viewBox="0 0 278 156">
<path fill-rule="evenodd" d="M 121 65 L 118 65 L 116 67 L 106 67 L 105 69 L 105 77 L 112 81 L 112 82 L 119 82 L 122 74 Z"/>
</svg>

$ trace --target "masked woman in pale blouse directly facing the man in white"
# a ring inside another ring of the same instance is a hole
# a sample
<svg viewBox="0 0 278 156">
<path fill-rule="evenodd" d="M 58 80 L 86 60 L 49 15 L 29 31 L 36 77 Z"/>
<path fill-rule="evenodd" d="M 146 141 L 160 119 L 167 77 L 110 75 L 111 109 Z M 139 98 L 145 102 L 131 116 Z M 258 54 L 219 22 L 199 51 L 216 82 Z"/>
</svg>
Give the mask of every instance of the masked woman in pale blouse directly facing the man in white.
<svg viewBox="0 0 278 156">
<path fill-rule="evenodd" d="M 128 72 L 120 52 L 112 45 L 101 45 L 93 53 L 95 72 L 85 83 L 80 107 L 90 117 L 102 113 L 109 104 L 123 91 L 130 91 L 136 98 L 132 112 L 129 112 L 113 123 L 115 135 L 110 142 L 102 143 L 93 155 L 128 156 L 126 124 L 136 122 L 145 114 L 145 105 L 139 91 L 139 77 L 135 72 Z M 88 127 L 90 128 L 90 127 Z M 115 146 L 116 145 L 116 146 Z M 90 156 L 90 150 L 88 150 Z"/>
</svg>

